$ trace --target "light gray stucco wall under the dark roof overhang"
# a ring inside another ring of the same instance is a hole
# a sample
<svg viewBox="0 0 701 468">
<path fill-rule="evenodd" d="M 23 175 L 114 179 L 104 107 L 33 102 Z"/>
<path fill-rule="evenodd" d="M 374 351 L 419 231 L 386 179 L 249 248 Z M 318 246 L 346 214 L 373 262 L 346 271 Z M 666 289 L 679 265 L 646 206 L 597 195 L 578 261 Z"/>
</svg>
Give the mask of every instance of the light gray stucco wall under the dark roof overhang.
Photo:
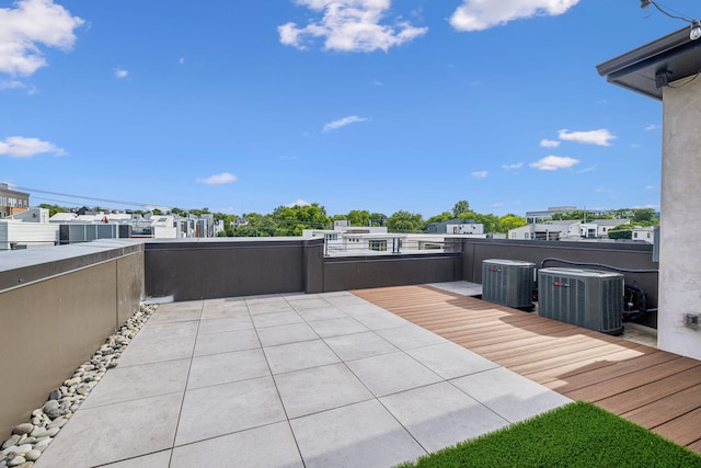
<svg viewBox="0 0 701 468">
<path fill-rule="evenodd" d="M 665 351 L 701 359 L 701 329 L 683 324 L 701 316 L 701 249 L 694 239 L 701 204 L 701 80 L 663 90 L 659 327 Z"/>
</svg>

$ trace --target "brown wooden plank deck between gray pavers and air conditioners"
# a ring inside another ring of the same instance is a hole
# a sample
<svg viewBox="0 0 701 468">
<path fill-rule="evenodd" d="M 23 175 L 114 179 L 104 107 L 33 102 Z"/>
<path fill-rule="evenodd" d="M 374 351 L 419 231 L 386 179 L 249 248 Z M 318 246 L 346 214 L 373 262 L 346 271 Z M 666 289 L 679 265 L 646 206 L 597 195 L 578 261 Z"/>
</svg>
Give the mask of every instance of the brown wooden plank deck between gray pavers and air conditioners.
<svg viewBox="0 0 701 468">
<path fill-rule="evenodd" d="M 430 286 L 353 293 L 573 400 L 701 453 L 701 361 Z"/>
</svg>

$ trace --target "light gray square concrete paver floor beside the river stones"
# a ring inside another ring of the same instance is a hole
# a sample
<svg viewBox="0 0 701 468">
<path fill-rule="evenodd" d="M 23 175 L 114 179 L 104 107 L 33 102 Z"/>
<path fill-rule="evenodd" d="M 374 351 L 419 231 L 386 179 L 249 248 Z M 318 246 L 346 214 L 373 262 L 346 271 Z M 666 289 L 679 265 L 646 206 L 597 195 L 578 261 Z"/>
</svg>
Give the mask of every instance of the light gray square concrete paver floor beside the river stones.
<svg viewBox="0 0 701 468">
<path fill-rule="evenodd" d="M 35 467 L 390 467 L 568 401 L 346 292 L 172 303 Z"/>
</svg>

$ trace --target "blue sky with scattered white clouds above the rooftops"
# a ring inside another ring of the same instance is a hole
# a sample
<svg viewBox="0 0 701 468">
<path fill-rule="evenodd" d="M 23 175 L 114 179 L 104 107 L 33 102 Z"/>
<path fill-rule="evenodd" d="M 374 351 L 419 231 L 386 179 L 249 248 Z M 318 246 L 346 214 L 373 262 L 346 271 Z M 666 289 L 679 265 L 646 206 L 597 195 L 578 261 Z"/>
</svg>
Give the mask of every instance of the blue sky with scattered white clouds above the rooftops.
<svg viewBox="0 0 701 468">
<path fill-rule="evenodd" d="M 658 209 L 662 103 L 596 65 L 683 26 L 639 0 L 0 0 L 0 181 L 238 215 Z"/>
</svg>

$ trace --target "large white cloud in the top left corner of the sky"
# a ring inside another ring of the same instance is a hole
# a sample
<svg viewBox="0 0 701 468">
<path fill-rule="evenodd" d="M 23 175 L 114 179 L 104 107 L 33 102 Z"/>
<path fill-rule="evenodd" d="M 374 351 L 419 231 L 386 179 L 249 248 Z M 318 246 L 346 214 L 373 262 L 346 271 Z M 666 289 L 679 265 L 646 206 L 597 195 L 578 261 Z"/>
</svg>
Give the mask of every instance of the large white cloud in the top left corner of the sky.
<svg viewBox="0 0 701 468">
<path fill-rule="evenodd" d="M 39 45 L 70 50 L 84 21 L 53 0 L 20 0 L 0 8 L 0 72 L 30 76 L 46 66 Z"/>
</svg>

